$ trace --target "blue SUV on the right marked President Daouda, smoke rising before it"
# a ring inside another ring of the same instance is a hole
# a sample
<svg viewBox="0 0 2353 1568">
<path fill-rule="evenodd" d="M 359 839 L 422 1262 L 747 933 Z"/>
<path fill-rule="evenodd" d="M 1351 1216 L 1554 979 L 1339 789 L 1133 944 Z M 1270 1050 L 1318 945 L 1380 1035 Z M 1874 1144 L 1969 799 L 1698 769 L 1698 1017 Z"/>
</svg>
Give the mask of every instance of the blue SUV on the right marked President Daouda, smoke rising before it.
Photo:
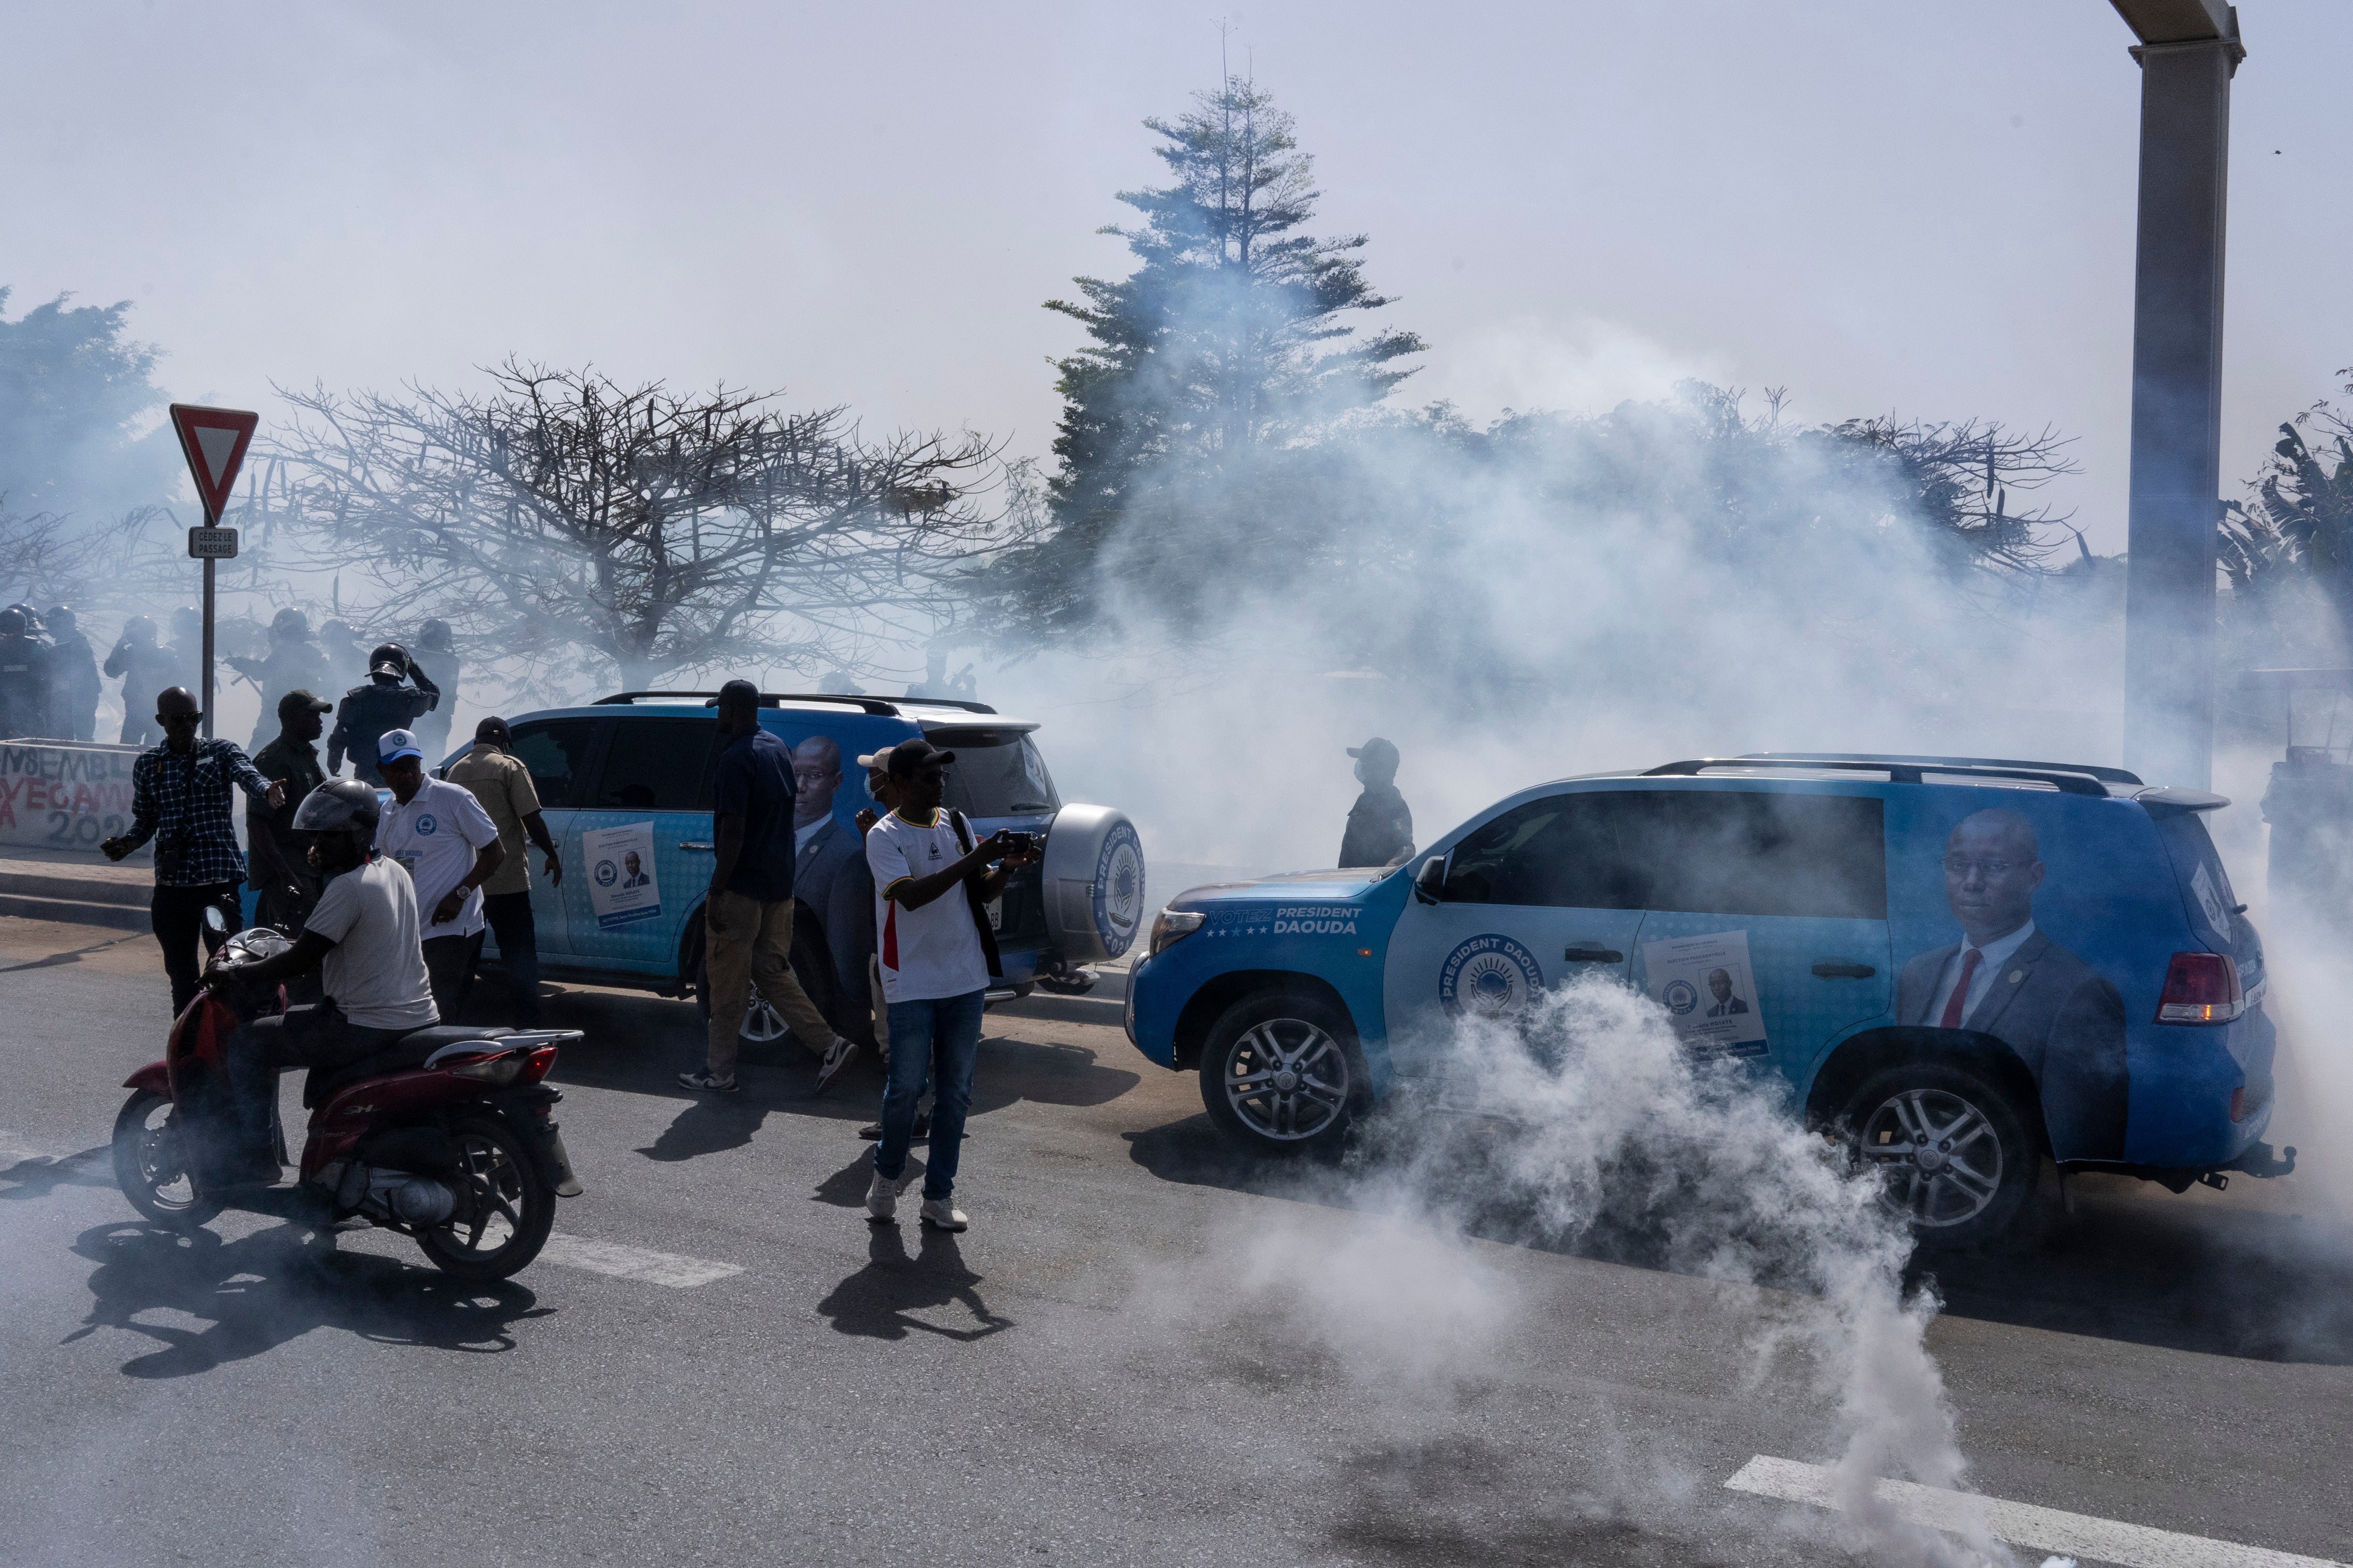
<svg viewBox="0 0 2353 1568">
<path fill-rule="evenodd" d="M 1612 976 L 1786 1079 L 1915 1227 L 2002 1229 L 2042 1157 L 2186 1190 L 2289 1168 L 2264 945 L 2205 811 L 2120 769 L 1748 755 L 1522 790 L 1395 870 L 1202 886 L 1127 992 L 1233 1140 L 1299 1152 L 1447 1048 Z"/>
</svg>

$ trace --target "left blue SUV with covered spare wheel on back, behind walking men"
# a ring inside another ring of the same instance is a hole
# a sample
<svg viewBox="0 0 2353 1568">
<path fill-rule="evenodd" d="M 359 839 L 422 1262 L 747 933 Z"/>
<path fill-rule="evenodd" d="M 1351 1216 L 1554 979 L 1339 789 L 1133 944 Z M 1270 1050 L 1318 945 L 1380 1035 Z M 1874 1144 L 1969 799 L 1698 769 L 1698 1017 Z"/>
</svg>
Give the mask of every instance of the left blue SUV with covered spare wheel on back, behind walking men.
<svg viewBox="0 0 2353 1568">
<path fill-rule="evenodd" d="M 701 997 L 720 752 L 713 705 L 708 691 L 624 691 L 511 719 L 515 757 L 532 771 L 565 865 L 558 889 L 532 858 L 532 924 L 546 978 Z M 1016 827 L 1045 839 L 1045 863 L 1014 872 L 988 910 L 1005 969 L 993 997 L 1026 994 L 1038 983 L 1080 990 L 1092 983 L 1085 964 L 1122 957 L 1134 943 L 1144 917 L 1136 830 L 1108 806 L 1061 802 L 1038 750 L 1038 724 L 981 703 L 772 693 L 760 698 L 760 726 L 791 748 L 800 792 L 793 971 L 840 1034 L 873 1041 L 873 882 L 854 823 L 873 799 L 856 759 L 899 741 L 927 736 L 955 752 L 946 802 L 976 835 Z M 496 943 L 487 957 L 496 957 Z M 744 1034 L 784 1034 L 758 992 Z"/>
</svg>

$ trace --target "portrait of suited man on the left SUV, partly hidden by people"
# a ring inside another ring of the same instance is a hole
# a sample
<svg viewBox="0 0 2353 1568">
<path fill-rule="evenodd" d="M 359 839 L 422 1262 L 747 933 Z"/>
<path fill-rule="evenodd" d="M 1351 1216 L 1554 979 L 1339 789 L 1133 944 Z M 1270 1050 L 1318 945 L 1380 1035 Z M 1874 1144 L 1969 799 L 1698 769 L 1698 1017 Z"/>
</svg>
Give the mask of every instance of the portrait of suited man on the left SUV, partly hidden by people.
<svg viewBox="0 0 2353 1568">
<path fill-rule="evenodd" d="M 861 788 L 842 799 L 840 741 L 807 736 L 793 748 L 793 898 L 802 905 L 793 917 L 793 971 L 835 1032 L 859 1041 L 873 1032 L 873 872 L 847 816 L 864 799 Z"/>
</svg>

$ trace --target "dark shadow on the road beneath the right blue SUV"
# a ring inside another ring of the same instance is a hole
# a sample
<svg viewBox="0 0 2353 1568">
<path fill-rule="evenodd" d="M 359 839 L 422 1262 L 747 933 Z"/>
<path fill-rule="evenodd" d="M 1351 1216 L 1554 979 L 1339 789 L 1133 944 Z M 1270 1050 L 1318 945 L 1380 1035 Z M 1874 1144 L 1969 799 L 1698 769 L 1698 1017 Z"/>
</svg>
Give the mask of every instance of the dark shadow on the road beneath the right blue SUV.
<svg viewBox="0 0 2353 1568">
<path fill-rule="evenodd" d="M 1355 1145 L 1325 1159 L 1259 1159 L 1207 1117 L 1127 1133 L 1129 1159 L 1160 1180 L 1369 1208 L 1379 1159 Z M 1920 1253 L 1951 1316 L 2049 1328 L 2252 1361 L 2353 1366 L 2353 1234 L 2344 1227 L 2209 1201 L 2167 1201 L 2129 1178 L 2075 1180 L 2073 1218 L 2045 1218 L 2014 1244 Z M 1664 1269 L 1659 1234 L 1595 1227 L 1555 1244 L 1527 1215 L 1475 1208 L 1466 1229 L 1511 1246 Z"/>
</svg>

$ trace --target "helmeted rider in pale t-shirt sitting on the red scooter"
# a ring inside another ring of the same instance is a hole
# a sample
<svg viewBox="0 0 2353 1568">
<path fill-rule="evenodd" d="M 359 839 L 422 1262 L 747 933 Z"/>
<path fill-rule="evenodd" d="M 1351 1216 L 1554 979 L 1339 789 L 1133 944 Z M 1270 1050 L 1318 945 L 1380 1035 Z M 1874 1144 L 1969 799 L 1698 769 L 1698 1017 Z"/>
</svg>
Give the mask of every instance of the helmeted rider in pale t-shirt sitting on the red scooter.
<svg viewBox="0 0 2353 1568">
<path fill-rule="evenodd" d="M 294 830 L 311 835 L 311 870 L 325 879 L 294 945 L 242 964 L 238 980 L 287 980 L 320 971 L 325 1001 L 259 1018 L 228 1041 L 240 1157 L 228 1180 L 278 1180 L 271 1095 L 280 1067 L 334 1070 L 374 1056 L 402 1034 L 440 1023 L 416 933 L 416 889 L 374 853 L 376 790 L 329 778 L 304 797 Z M 205 983 L 224 978 L 207 971 Z"/>
</svg>

